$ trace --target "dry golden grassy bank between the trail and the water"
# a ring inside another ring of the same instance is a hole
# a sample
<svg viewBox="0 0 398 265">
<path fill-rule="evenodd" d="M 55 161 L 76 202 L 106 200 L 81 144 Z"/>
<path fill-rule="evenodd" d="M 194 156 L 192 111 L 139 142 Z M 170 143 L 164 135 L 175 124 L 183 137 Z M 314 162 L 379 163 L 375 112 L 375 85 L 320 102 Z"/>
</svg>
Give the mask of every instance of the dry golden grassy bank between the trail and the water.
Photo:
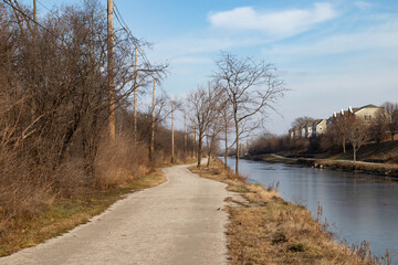
<svg viewBox="0 0 398 265">
<path fill-rule="evenodd" d="M 282 200 L 273 187 L 235 178 L 219 160 L 191 171 L 224 182 L 247 199 L 227 208 L 231 264 L 384 264 L 370 257 L 367 244 L 353 250 L 337 243 L 327 223 L 320 221 L 322 208 L 314 220 L 305 208 Z"/>
</svg>

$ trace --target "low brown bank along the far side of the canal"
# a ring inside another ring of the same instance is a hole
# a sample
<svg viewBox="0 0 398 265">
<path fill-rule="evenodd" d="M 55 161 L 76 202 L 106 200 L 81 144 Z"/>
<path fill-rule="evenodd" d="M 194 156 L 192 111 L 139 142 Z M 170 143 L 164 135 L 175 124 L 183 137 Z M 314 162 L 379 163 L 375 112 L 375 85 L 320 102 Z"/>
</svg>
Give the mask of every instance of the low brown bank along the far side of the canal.
<svg viewBox="0 0 398 265">
<path fill-rule="evenodd" d="M 388 180 L 398 181 L 398 163 L 376 163 L 364 161 L 349 161 L 349 160 L 335 160 L 335 159 L 317 159 L 317 158 L 287 158 L 277 155 L 260 155 L 244 157 L 244 159 L 264 161 L 264 162 L 279 162 L 287 165 L 302 165 L 313 168 L 329 168 L 336 170 L 344 170 L 348 172 L 376 174 Z"/>
</svg>

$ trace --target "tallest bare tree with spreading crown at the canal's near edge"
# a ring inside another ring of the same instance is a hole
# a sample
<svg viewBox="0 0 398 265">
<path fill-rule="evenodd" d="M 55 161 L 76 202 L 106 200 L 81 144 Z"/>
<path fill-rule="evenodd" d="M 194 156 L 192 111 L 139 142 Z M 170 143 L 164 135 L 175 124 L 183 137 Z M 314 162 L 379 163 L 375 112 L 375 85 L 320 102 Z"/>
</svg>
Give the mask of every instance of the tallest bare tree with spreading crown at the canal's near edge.
<svg viewBox="0 0 398 265">
<path fill-rule="evenodd" d="M 265 112 L 274 109 L 274 104 L 286 88 L 273 65 L 264 61 L 256 62 L 252 57 L 240 59 L 230 53 L 221 53 L 216 66 L 213 77 L 224 88 L 232 106 L 238 174 L 241 136 L 262 125 Z"/>
</svg>

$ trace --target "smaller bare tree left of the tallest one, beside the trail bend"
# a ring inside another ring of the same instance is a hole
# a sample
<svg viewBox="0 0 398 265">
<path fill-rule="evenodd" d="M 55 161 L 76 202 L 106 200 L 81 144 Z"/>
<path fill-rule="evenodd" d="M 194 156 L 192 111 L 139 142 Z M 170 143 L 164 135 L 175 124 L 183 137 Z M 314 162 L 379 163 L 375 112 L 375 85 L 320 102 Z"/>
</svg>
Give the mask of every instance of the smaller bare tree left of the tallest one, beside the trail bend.
<svg viewBox="0 0 398 265">
<path fill-rule="evenodd" d="M 214 84 L 208 83 L 207 87 L 198 87 L 188 95 L 189 119 L 198 134 L 198 168 L 201 165 L 203 138 L 217 115 L 217 105 L 222 91 Z"/>
</svg>

